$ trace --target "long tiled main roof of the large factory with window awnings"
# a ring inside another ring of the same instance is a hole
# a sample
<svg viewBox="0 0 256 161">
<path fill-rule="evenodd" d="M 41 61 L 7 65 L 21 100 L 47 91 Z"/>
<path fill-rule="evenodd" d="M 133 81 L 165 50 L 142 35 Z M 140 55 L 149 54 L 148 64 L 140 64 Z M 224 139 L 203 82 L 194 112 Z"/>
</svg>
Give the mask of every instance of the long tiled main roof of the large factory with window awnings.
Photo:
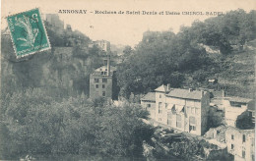
<svg viewBox="0 0 256 161">
<path fill-rule="evenodd" d="M 201 90 L 189 91 L 189 89 L 172 88 L 166 94 L 166 96 L 201 100 L 201 98 L 202 98 L 202 91 Z"/>
</svg>

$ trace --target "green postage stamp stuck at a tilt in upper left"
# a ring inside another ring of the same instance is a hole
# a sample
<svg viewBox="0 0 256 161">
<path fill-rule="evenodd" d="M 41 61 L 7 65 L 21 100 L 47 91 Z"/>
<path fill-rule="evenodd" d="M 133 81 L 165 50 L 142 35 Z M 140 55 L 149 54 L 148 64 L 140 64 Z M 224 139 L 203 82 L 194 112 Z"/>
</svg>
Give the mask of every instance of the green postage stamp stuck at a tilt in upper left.
<svg viewBox="0 0 256 161">
<path fill-rule="evenodd" d="M 50 49 L 39 9 L 9 16 L 7 22 L 17 58 Z"/>
</svg>

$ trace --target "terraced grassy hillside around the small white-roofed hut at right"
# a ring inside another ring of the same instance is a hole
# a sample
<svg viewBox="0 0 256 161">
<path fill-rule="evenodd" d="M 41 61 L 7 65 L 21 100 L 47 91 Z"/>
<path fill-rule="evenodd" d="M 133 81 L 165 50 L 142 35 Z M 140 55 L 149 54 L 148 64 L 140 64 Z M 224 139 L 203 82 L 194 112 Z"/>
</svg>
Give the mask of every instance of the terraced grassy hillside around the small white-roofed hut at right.
<svg viewBox="0 0 256 161">
<path fill-rule="evenodd" d="M 255 98 L 255 42 L 252 40 L 243 50 L 233 50 L 228 55 L 204 46 L 210 58 L 208 68 L 186 73 L 184 86 L 224 89 L 227 95 Z M 218 82 L 209 82 L 213 79 Z"/>
</svg>

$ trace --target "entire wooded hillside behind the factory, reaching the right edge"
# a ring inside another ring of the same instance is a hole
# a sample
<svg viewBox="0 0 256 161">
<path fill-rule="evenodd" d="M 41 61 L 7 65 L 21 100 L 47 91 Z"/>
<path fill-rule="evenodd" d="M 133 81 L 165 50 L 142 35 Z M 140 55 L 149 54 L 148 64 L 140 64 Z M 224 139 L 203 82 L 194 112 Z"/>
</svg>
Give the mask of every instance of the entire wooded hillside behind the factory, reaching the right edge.
<svg viewBox="0 0 256 161">
<path fill-rule="evenodd" d="M 172 87 L 224 88 L 237 94 L 231 90 L 240 87 L 226 83 L 211 85 L 206 81 L 219 79 L 225 70 L 228 72 L 221 77 L 232 79 L 238 63 L 229 60 L 235 54 L 248 54 L 243 46 L 255 39 L 255 15 L 255 11 L 236 10 L 205 22 L 195 21 L 191 27 L 181 27 L 177 34 L 170 30 L 145 32 L 134 50 L 129 47 L 124 50 L 129 56 L 117 70 L 120 94 L 129 97 L 131 92 L 145 93 L 162 83 L 170 83 Z M 209 53 L 208 48 L 216 54 Z"/>
</svg>

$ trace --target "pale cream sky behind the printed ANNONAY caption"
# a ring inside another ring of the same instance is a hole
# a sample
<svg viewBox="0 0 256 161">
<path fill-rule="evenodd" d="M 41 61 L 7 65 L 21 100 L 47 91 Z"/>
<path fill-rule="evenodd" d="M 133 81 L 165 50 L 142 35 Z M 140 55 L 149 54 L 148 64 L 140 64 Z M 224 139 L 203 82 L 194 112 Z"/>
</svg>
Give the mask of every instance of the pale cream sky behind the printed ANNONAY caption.
<svg viewBox="0 0 256 161">
<path fill-rule="evenodd" d="M 255 10 L 255 0 L 2 0 L 1 27 L 7 27 L 6 17 L 39 8 L 41 14 L 58 14 L 59 10 L 87 10 L 87 14 L 59 14 L 65 24 L 71 25 L 93 40 L 105 39 L 113 44 L 135 46 L 143 32 L 171 29 L 178 32 L 181 26 L 190 26 L 195 20 L 204 21 L 211 16 L 182 15 L 182 12 L 228 12 L 238 8 Z M 96 11 L 140 11 L 141 15 L 106 15 Z M 158 15 L 142 15 L 142 11 Z M 169 11 L 181 15 L 159 15 Z M 92 12 L 92 13 L 91 13 Z"/>
</svg>

